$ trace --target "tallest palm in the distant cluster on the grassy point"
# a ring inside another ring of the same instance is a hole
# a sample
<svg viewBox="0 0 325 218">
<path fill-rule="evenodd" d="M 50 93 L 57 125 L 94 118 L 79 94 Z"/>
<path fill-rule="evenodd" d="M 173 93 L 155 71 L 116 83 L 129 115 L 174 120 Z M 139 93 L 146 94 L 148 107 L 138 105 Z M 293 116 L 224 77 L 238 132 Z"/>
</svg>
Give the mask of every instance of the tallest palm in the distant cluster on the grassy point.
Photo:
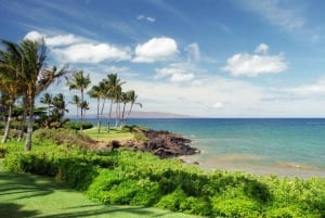
<svg viewBox="0 0 325 218">
<path fill-rule="evenodd" d="M 117 102 L 118 92 L 119 90 L 121 90 L 121 85 L 123 85 L 125 81 L 120 81 L 120 79 L 117 78 L 117 74 L 109 74 L 107 75 L 107 78 L 104 79 L 104 82 L 106 82 L 106 86 L 108 88 L 107 98 L 110 99 L 110 106 L 109 106 L 108 121 L 107 121 L 107 132 L 109 132 L 113 103 L 114 101 Z"/>
</svg>

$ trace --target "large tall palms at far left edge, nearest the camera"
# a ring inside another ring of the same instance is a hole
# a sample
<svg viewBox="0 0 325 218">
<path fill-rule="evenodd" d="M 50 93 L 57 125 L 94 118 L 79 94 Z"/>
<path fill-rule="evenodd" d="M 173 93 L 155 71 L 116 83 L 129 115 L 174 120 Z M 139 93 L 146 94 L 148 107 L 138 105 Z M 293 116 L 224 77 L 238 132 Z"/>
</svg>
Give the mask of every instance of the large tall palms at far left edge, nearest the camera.
<svg viewBox="0 0 325 218">
<path fill-rule="evenodd" d="M 36 97 L 68 70 L 66 66 L 60 70 L 55 66 L 52 68 L 47 66 L 47 47 L 43 40 L 23 40 L 21 43 L 2 40 L 1 43 L 4 49 L 0 52 L 0 81 L 3 85 L 1 87 L 10 88 L 1 89 L 1 92 L 5 93 L 9 107 L 2 141 L 5 142 L 9 136 L 6 128 L 11 121 L 10 110 L 15 100 L 21 97 L 24 99 L 24 118 L 28 116 L 25 149 L 30 151 Z"/>
</svg>

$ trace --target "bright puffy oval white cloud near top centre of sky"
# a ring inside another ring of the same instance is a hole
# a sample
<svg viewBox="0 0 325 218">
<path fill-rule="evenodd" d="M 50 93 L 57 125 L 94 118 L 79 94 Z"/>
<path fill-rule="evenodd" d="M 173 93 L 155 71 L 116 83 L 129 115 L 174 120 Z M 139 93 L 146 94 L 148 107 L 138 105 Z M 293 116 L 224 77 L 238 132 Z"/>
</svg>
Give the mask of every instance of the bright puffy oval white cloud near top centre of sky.
<svg viewBox="0 0 325 218">
<path fill-rule="evenodd" d="M 153 63 L 157 61 L 169 60 L 178 53 L 177 42 L 167 37 L 152 38 L 143 44 L 135 48 L 135 57 L 132 60 L 136 63 Z"/>
</svg>

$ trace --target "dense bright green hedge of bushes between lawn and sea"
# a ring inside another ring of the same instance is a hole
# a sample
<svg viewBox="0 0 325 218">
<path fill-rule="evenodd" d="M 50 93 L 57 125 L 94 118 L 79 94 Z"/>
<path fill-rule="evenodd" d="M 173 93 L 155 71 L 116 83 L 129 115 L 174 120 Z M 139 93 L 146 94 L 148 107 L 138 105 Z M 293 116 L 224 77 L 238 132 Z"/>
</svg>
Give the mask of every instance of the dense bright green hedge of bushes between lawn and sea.
<svg viewBox="0 0 325 218">
<path fill-rule="evenodd" d="M 148 153 L 86 151 L 38 139 L 31 152 L 24 152 L 18 143 L 3 150 L 6 168 L 55 176 L 105 204 L 156 206 L 208 217 L 325 217 L 324 178 L 206 172 Z"/>
</svg>

